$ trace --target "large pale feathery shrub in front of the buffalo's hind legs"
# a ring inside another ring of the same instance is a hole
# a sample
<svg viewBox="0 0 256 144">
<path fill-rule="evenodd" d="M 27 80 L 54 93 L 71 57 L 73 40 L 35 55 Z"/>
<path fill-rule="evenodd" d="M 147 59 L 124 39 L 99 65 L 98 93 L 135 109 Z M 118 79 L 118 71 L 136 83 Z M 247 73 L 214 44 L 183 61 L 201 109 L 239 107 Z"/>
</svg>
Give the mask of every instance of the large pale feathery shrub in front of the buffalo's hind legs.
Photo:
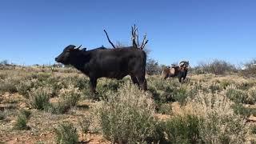
<svg viewBox="0 0 256 144">
<path fill-rule="evenodd" d="M 117 93 L 107 93 L 95 112 L 104 137 L 111 142 L 144 142 L 154 135 L 154 102 L 151 95 L 129 82 Z"/>
</svg>

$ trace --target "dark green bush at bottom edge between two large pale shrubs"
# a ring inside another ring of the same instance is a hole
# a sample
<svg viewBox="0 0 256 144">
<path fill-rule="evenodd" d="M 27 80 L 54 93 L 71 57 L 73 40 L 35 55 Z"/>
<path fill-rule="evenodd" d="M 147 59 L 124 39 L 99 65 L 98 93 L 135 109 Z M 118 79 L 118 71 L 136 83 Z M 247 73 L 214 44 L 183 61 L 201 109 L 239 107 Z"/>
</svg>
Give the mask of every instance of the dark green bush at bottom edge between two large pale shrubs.
<svg viewBox="0 0 256 144">
<path fill-rule="evenodd" d="M 170 143 L 199 143 L 199 118 L 194 115 L 176 116 L 166 121 L 164 128 Z"/>
</svg>

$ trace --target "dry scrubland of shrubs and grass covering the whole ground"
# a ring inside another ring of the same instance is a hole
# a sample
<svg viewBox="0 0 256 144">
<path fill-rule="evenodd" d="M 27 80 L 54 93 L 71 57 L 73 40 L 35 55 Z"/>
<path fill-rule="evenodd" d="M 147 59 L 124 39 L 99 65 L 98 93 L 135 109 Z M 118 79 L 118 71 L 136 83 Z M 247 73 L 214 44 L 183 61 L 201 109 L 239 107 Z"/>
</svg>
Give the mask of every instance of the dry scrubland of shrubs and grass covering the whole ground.
<svg viewBox="0 0 256 144">
<path fill-rule="evenodd" d="M 210 69 L 210 64 L 203 66 L 190 71 L 183 84 L 177 78 L 147 75 L 147 91 L 131 84 L 129 77 L 119 81 L 100 78 L 95 96 L 90 94 L 89 79 L 70 67 L 2 68 L 0 140 L 256 142 L 256 79 L 250 71 L 254 67 L 226 70 L 229 64 L 214 62 L 222 69 L 216 72 L 219 69 Z"/>
</svg>

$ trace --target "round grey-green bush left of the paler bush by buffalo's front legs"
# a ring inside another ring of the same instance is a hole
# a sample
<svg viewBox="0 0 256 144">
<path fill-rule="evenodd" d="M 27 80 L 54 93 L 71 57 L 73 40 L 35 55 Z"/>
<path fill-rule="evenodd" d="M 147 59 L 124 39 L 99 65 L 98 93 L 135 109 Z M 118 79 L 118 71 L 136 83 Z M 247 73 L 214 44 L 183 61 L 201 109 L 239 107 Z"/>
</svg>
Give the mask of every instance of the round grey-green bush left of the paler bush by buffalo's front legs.
<svg viewBox="0 0 256 144">
<path fill-rule="evenodd" d="M 50 105 L 50 91 L 44 87 L 38 87 L 32 89 L 29 92 L 30 95 L 30 106 L 37 110 L 44 110 Z"/>
</svg>

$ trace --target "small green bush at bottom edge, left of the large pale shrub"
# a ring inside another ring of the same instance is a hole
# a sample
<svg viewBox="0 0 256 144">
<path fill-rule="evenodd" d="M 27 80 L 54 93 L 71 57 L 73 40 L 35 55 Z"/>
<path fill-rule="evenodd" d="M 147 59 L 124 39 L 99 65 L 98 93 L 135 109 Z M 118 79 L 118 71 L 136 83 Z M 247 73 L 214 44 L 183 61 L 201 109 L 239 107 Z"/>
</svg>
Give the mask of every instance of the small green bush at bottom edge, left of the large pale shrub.
<svg viewBox="0 0 256 144">
<path fill-rule="evenodd" d="M 62 123 L 54 131 L 57 143 L 72 144 L 78 142 L 78 132 L 71 123 Z"/>
</svg>

